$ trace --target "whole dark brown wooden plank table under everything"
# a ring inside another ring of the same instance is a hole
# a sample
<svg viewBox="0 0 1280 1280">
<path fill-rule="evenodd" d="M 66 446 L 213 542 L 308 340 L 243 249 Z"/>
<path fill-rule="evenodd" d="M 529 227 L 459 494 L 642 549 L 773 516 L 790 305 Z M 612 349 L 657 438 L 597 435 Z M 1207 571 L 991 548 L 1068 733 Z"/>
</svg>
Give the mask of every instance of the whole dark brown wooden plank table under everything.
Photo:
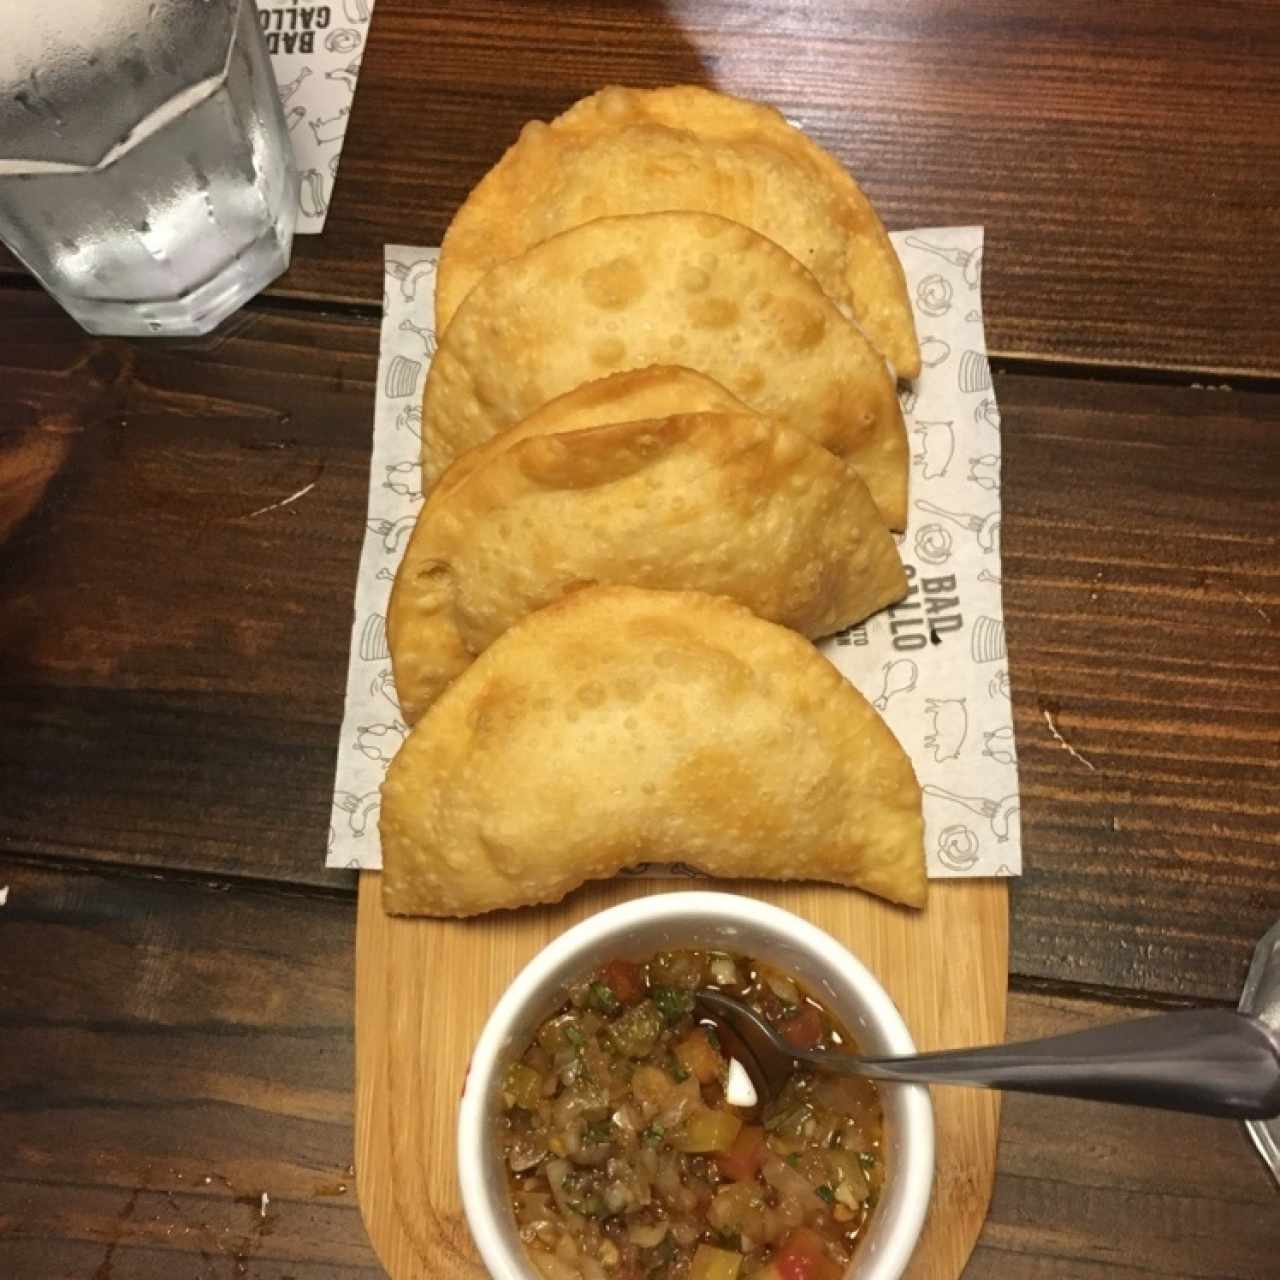
<svg viewBox="0 0 1280 1280">
<path fill-rule="evenodd" d="M 1280 915 L 1277 60 L 1265 3 L 379 0 L 329 228 L 221 332 L 87 338 L 6 259 L 0 1275 L 380 1274 L 321 855 L 381 244 L 609 81 L 772 99 L 890 225 L 986 224 L 1010 1034 L 1233 1004 Z M 1238 1126 L 1006 1101 L 974 1280 L 1277 1257 Z"/>
</svg>

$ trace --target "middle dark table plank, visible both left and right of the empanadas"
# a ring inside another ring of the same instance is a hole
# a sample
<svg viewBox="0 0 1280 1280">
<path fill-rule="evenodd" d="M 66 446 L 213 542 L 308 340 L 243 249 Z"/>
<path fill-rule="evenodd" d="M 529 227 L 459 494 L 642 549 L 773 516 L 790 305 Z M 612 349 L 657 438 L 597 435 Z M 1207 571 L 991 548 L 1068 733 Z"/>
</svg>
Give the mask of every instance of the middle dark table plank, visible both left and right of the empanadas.
<svg viewBox="0 0 1280 1280">
<path fill-rule="evenodd" d="M 372 325 L 253 311 L 177 351 L 84 339 L 38 294 L 8 303 L 0 385 L 33 420 L 73 406 L 78 434 L 0 547 L 0 849 L 349 883 L 320 861 Z M 1234 998 L 1280 915 L 1276 398 L 1027 376 L 998 393 L 1027 845 L 1012 972 Z"/>
</svg>

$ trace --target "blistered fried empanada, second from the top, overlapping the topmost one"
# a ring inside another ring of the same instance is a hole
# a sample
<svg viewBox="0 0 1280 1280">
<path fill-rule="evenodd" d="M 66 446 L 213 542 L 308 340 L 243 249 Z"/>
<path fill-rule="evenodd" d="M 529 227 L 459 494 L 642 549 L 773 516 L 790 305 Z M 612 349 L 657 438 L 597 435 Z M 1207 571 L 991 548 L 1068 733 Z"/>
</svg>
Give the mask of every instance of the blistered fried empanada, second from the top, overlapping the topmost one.
<svg viewBox="0 0 1280 1280">
<path fill-rule="evenodd" d="M 600 218 L 495 266 L 439 339 L 422 399 L 422 472 L 591 378 L 678 362 L 808 435 L 906 521 L 893 381 L 818 282 L 712 214 Z"/>
</svg>

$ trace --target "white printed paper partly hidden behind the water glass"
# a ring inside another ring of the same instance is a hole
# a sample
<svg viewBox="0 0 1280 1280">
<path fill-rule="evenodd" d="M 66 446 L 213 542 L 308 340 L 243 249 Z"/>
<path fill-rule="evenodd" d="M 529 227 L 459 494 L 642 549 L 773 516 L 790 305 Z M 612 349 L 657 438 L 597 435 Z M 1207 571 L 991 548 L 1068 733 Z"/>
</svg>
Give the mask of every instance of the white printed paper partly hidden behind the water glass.
<svg viewBox="0 0 1280 1280">
<path fill-rule="evenodd" d="M 300 236 L 324 230 L 374 0 L 257 0 L 302 186 Z"/>
</svg>

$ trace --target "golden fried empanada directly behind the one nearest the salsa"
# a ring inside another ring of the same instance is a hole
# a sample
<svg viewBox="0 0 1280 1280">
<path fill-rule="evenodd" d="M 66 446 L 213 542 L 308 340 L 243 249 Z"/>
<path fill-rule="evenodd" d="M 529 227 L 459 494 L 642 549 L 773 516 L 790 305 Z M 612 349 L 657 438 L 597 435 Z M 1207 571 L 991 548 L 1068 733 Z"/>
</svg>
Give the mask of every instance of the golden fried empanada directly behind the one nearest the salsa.
<svg viewBox="0 0 1280 1280">
<path fill-rule="evenodd" d="M 445 472 L 397 573 L 387 635 L 404 718 L 525 614 L 594 582 L 727 595 L 814 637 L 906 594 L 858 474 L 768 419 L 504 433 Z"/>
</svg>

